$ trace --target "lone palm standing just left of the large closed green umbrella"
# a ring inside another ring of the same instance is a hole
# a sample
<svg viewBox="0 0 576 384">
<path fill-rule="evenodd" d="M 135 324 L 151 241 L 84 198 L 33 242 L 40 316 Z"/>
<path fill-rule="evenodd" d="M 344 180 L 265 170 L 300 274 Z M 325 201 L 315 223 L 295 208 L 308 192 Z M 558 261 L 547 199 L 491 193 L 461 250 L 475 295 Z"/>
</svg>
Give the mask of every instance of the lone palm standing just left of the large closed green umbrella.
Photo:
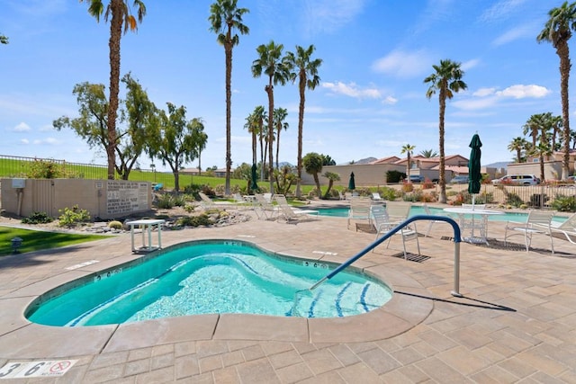
<svg viewBox="0 0 576 384">
<path fill-rule="evenodd" d="M 440 150 L 440 197 L 439 201 L 446 203 L 446 164 L 444 154 L 444 117 L 446 113 L 446 99 L 452 99 L 454 93 L 464 90 L 468 87 L 462 77 L 464 71 L 460 68 L 461 64 L 450 59 L 440 60 L 439 66 L 432 66 L 436 71 L 424 79 L 424 83 L 429 84 L 426 97 L 429 99 L 438 91 L 438 101 L 440 103 L 439 112 L 439 150 Z"/>
</svg>

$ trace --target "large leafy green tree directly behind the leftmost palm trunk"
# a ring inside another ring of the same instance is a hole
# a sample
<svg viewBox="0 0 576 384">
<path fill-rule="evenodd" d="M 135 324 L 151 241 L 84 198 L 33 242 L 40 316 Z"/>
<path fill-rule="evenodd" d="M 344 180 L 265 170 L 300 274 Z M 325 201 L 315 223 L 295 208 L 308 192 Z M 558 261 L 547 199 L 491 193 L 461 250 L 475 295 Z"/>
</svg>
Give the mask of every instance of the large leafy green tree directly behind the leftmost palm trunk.
<svg viewBox="0 0 576 384">
<path fill-rule="evenodd" d="M 136 165 L 137 159 L 147 146 L 150 132 L 157 123 L 154 116 L 156 107 L 148 100 L 148 94 L 139 83 L 129 75 L 122 77 L 126 85 L 126 111 L 121 109 L 120 128 L 116 129 L 114 171 L 121 175 L 122 180 L 128 180 L 130 171 Z M 72 92 L 76 95 L 79 117 L 70 119 L 62 116 L 53 121 L 55 129 L 69 128 L 76 135 L 85 139 L 89 147 L 111 147 L 107 134 L 107 119 L 109 103 L 104 93 L 104 85 L 80 83 Z M 127 126 L 124 127 L 124 122 Z M 120 165 L 117 165 L 116 160 Z"/>
</svg>

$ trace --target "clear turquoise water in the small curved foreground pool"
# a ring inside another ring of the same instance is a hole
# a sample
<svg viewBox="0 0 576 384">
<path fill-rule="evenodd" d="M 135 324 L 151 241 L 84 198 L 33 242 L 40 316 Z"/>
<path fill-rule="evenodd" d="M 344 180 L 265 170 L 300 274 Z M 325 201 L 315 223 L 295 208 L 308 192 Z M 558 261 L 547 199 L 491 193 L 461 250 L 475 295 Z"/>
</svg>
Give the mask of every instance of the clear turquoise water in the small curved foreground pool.
<svg viewBox="0 0 576 384">
<path fill-rule="evenodd" d="M 190 242 L 49 291 L 25 316 L 47 326 L 211 313 L 347 317 L 392 298 L 386 284 L 359 272 L 338 273 L 307 290 L 334 267 L 271 255 L 242 241 Z"/>
</svg>

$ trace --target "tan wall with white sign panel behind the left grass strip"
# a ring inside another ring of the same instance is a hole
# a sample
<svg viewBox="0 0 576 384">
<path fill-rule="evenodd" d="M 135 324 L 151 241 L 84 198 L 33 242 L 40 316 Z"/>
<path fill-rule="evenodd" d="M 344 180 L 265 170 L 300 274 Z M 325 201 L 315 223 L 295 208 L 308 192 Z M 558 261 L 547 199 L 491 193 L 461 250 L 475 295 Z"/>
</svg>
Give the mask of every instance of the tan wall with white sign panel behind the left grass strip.
<svg viewBox="0 0 576 384">
<path fill-rule="evenodd" d="M 38 211 L 58 218 L 58 210 L 72 208 L 77 204 L 78 208 L 90 212 L 93 218 L 114 219 L 145 212 L 152 205 L 151 186 L 148 182 L 2 179 L 0 183 L 2 209 L 24 217 Z M 19 188 L 21 186 L 23 188 Z"/>
</svg>

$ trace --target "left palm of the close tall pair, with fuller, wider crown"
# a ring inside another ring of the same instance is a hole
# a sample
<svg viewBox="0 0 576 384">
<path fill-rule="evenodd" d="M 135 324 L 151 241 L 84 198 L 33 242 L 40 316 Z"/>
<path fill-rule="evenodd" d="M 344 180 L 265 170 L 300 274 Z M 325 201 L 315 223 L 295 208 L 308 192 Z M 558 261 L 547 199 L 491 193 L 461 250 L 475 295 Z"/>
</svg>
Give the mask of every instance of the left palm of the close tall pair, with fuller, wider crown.
<svg viewBox="0 0 576 384">
<path fill-rule="evenodd" d="M 276 44 L 274 40 L 258 46 L 258 58 L 252 62 L 252 76 L 260 77 L 262 73 L 268 76 L 268 84 L 264 87 L 268 94 L 268 179 L 270 180 L 270 192 L 274 193 L 274 156 L 272 143 L 274 141 L 274 85 L 285 85 L 291 78 L 292 66 L 282 57 L 283 44 Z"/>
</svg>

